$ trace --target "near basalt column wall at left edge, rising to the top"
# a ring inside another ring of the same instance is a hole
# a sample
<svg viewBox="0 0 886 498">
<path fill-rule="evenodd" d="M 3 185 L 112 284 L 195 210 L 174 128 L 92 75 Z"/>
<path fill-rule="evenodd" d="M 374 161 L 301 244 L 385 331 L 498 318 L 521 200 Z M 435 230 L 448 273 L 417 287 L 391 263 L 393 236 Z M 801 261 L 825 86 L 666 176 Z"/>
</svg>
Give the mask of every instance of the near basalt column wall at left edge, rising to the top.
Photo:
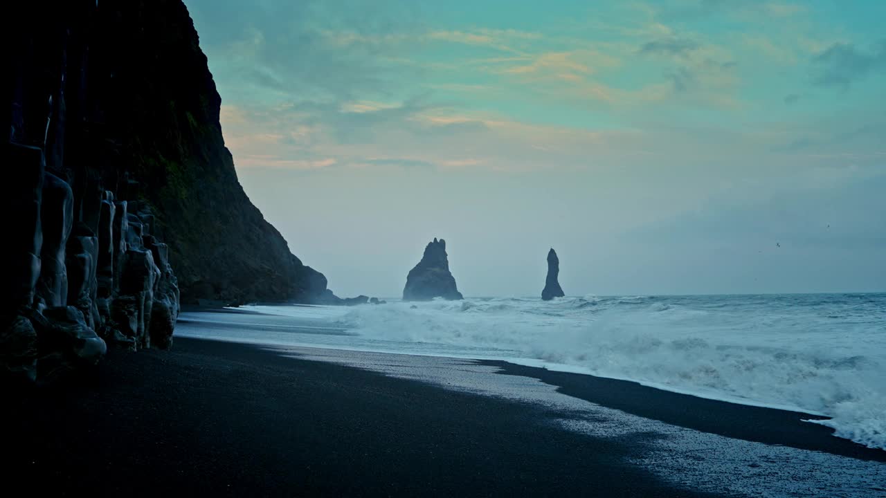
<svg viewBox="0 0 886 498">
<path fill-rule="evenodd" d="M 97 362 L 107 343 L 171 346 L 179 291 L 167 245 L 152 236 L 152 206 L 121 166 L 121 130 L 102 126 L 121 103 L 105 102 L 113 73 L 104 45 L 92 43 L 96 4 L 29 3 L 13 18 L 0 100 L 0 212 L 12 220 L 0 372 L 51 379 Z"/>
</svg>

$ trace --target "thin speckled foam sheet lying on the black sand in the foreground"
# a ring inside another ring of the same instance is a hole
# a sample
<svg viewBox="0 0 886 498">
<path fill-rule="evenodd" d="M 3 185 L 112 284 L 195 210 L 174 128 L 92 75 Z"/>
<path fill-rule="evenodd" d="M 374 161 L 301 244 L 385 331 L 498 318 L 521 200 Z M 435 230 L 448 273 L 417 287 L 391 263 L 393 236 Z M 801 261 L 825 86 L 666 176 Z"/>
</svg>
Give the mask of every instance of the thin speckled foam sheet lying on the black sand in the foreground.
<svg viewBox="0 0 886 498">
<path fill-rule="evenodd" d="M 536 378 L 498 375 L 494 366 L 453 358 L 315 348 L 293 348 L 291 353 L 299 359 L 334 362 L 445 389 L 532 403 L 543 407 L 537 419 L 540 423 L 547 420 L 592 437 L 640 436 L 644 447 L 628 457 L 630 462 L 697 491 L 736 497 L 860 497 L 880 496 L 886 482 L 886 465 L 880 462 L 696 432 L 572 398 Z M 657 437 L 649 438 L 650 433 Z"/>
</svg>

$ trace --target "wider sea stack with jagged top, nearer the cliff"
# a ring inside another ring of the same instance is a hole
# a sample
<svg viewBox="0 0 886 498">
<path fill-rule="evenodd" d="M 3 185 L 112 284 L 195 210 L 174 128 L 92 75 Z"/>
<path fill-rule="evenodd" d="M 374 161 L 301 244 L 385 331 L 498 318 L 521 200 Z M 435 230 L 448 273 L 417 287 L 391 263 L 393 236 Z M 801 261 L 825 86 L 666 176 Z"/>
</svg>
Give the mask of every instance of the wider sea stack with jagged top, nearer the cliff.
<svg viewBox="0 0 886 498">
<path fill-rule="evenodd" d="M 403 300 L 426 301 L 434 298 L 461 300 L 462 292 L 455 286 L 455 277 L 449 272 L 446 241 L 442 238 L 424 248 L 422 261 L 409 270 Z"/>
</svg>

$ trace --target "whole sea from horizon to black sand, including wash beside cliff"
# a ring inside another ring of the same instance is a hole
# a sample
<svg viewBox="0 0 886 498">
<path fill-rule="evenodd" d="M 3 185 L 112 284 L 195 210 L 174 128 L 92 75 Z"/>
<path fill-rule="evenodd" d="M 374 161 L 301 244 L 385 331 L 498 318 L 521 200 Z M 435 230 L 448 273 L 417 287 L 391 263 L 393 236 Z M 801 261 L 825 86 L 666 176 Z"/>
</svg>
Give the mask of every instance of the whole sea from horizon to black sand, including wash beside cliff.
<svg viewBox="0 0 886 498">
<path fill-rule="evenodd" d="M 820 423 L 836 436 L 886 449 L 886 293 L 467 298 L 242 309 L 265 316 L 187 314 L 176 334 L 507 360 L 633 380 L 829 416 Z M 218 326 L 187 326 L 196 321 Z"/>
</svg>

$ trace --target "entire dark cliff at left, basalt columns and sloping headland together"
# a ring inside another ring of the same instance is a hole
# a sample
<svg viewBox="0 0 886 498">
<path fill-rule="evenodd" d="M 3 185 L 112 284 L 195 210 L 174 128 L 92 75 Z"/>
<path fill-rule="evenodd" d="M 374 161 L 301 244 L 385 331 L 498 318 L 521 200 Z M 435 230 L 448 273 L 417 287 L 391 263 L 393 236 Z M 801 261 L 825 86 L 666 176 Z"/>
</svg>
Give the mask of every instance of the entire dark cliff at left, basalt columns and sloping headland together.
<svg viewBox="0 0 886 498">
<path fill-rule="evenodd" d="M 246 197 L 181 0 L 4 17 L 0 370 L 169 346 L 183 302 L 338 302 Z"/>
</svg>

